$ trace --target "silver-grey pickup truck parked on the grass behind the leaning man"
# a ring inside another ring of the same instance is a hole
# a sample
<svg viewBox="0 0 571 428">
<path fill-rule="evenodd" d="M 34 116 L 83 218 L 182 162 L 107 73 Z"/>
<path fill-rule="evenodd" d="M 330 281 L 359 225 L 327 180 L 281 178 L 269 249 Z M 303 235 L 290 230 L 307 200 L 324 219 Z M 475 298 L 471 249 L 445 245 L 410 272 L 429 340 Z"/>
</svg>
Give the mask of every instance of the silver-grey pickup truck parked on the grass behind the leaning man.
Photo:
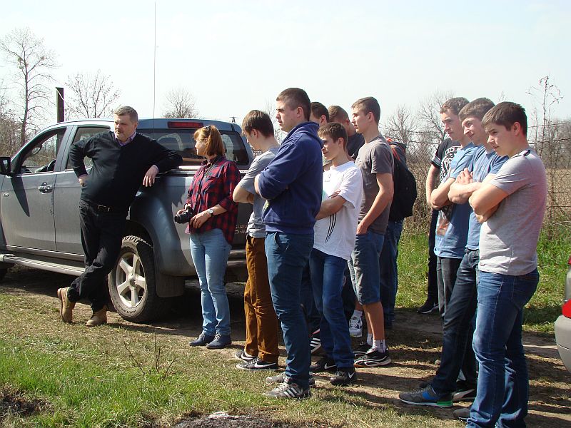
<svg viewBox="0 0 571 428">
<path fill-rule="evenodd" d="M 196 156 L 193 133 L 216 126 L 226 158 L 245 173 L 251 148 L 233 123 L 196 119 L 141 119 L 137 131 L 183 157 L 183 165 L 141 187 L 131 204 L 121 254 L 108 275 L 109 295 L 121 317 L 146 322 L 163 315 L 184 282 L 196 275 L 185 225 L 173 222 L 203 158 Z M 0 157 L 0 280 L 12 265 L 69 275 L 84 270 L 78 203 L 81 187 L 69 161 L 69 148 L 82 138 L 113 129 L 111 119 L 58 123 L 44 129 L 12 158 Z M 85 159 L 89 168 L 89 158 Z M 228 280 L 246 277 L 246 225 L 251 208 L 240 204 L 236 238 L 228 260 Z M 63 284 L 62 286 L 65 286 Z"/>
</svg>

